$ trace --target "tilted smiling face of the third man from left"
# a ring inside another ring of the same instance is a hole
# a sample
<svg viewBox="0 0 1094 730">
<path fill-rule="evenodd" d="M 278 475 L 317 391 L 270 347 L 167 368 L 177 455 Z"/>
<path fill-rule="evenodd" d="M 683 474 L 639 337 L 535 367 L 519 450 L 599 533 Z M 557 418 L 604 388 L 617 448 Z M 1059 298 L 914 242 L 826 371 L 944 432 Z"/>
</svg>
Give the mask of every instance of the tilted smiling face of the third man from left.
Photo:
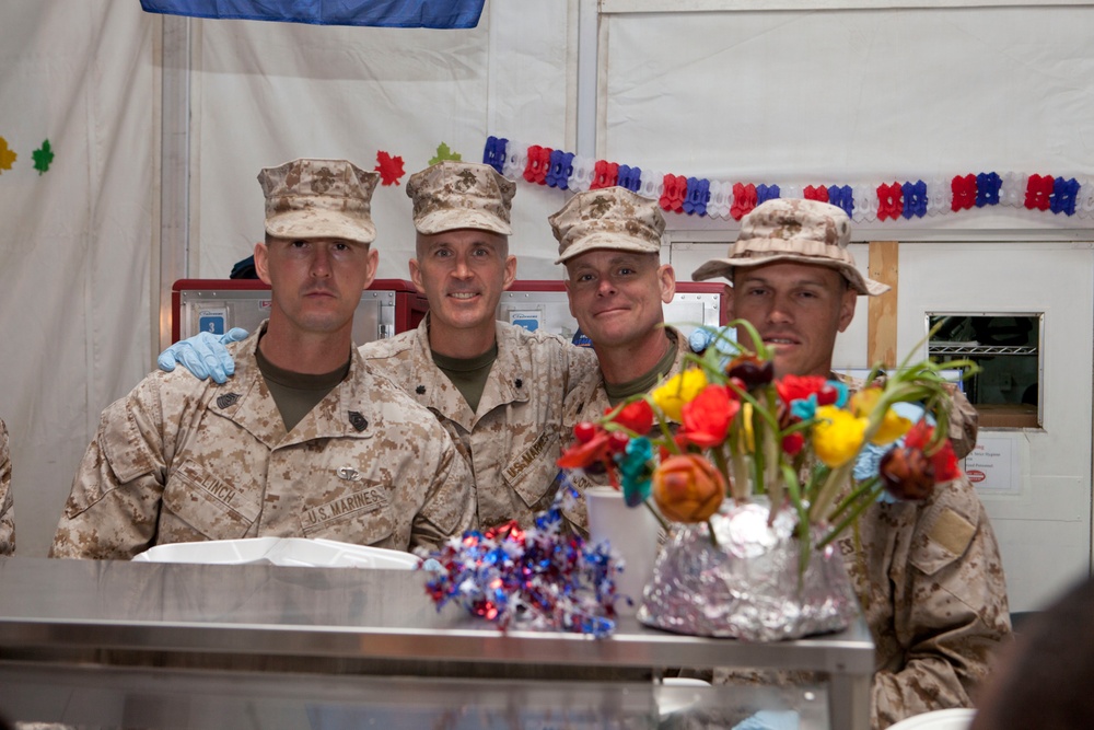
<svg viewBox="0 0 1094 730">
<path fill-rule="evenodd" d="M 663 337 L 662 304 L 673 300 L 676 277 L 659 254 L 594 250 L 566 263 L 570 314 L 600 352 Z"/>
</svg>

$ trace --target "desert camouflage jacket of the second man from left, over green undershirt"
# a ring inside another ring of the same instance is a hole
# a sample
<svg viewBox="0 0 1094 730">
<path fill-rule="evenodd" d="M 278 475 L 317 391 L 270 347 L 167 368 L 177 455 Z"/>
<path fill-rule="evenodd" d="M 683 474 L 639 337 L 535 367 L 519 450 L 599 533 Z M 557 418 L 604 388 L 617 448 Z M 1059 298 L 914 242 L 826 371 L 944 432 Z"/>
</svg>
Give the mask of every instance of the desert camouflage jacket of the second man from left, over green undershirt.
<svg viewBox="0 0 1094 730">
<path fill-rule="evenodd" d="M 433 363 L 428 318 L 414 332 L 364 345 L 361 354 L 452 434 L 474 475 L 479 524 L 531 526 L 557 491 L 556 462 L 570 433 L 563 396 L 583 373 L 598 370 L 592 350 L 556 335 L 499 322 L 497 337 L 498 359 L 477 414 Z"/>
</svg>

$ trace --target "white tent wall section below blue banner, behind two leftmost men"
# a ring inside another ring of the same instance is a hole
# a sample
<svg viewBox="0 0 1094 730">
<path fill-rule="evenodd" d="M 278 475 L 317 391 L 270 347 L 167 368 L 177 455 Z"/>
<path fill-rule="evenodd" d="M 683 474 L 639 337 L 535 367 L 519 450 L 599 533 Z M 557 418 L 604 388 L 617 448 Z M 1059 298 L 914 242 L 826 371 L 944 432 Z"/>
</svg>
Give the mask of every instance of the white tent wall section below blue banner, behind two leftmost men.
<svg viewBox="0 0 1094 730">
<path fill-rule="evenodd" d="M 568 5 L 489 3 L 470 31 L 315 27 L 201 21 L 195 51 L 191 275 L 224 278 L 263 235 L 260 167 L 334 157 L 373 169 L 403 158 L 398 185 L 373 196 L 381 278 L 409 277 L 406 177 L 444 142 L 479 161 L 492 129 L 565 140 Z M 514 200 L 521 278 L 558 278 L 552 194 Z"/>
</svg>

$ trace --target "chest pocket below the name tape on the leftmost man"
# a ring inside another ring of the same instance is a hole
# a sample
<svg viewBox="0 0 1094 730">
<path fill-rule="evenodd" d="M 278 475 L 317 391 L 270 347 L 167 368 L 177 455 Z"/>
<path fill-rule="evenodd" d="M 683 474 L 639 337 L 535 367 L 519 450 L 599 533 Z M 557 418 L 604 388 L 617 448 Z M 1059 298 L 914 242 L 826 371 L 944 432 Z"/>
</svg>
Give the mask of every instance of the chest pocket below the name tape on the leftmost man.
<svg viewBox="0 0 1094 730">
<path fill-rule="evenodd" d="M 258 519 L 259 494 L 241 490 L 187 460 L 168 477 L 163 508 L 208 540 L 235 540 Z"/>
</svg>

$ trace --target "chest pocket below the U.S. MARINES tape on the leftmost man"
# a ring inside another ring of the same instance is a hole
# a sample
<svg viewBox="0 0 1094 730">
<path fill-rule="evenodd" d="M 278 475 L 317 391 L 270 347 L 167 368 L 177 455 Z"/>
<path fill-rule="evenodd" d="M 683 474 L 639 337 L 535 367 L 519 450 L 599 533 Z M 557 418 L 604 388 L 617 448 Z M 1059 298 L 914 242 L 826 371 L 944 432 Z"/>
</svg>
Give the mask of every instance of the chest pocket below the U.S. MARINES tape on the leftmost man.
<svg viewBox="0 0 1094 730">
<path fill-rule="evenodd" d="M 395 532 L 387 491 L 380 485 L 354 486 L 354 491 L 305 509 L 301 515 L 304 535 L 387 547 Z"/>
</svg>

